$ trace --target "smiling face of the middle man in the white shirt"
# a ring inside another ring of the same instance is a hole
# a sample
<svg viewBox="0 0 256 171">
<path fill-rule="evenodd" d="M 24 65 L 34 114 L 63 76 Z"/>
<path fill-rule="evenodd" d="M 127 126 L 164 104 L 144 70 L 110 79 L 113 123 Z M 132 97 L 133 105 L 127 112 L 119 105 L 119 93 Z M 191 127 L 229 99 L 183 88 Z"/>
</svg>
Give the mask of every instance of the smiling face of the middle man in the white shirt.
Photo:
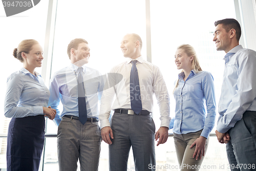
<svg viewBox="0 0 256 171">
<path fill-rule="evenodd" d="M 120 47 L 125 58 L 135 59 L 139 57 L 139 41 L 135 41 L 132 35 L 125 35 L 121 41 Z"/>
</svg>

